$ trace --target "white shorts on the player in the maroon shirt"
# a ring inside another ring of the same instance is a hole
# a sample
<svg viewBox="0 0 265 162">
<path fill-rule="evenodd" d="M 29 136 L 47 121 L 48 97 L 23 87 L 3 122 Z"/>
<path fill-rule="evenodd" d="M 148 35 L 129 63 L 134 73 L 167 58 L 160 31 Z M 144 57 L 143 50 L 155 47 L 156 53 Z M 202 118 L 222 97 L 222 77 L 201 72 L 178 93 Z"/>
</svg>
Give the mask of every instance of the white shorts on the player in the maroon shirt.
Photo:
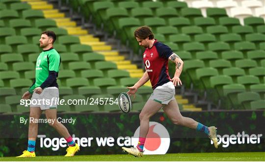
<svg viewBox="0 0 265 162">
<path fill-rule="evenodd" d="M 158 86 L 149 99 L 167 105 L 171 100 L 175 99 L 175 86 L 172 82 L 167 82 L 162 86 Z"/>
</svg>

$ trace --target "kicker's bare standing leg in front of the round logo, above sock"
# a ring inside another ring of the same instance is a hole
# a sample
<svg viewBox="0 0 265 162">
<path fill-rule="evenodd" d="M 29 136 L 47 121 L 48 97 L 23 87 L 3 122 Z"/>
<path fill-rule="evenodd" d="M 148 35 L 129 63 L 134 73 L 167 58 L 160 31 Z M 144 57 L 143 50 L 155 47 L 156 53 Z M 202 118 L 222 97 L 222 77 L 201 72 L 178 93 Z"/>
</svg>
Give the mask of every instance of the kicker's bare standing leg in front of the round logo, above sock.
<svg viewBox="0 0 265 162">
<path fill-rule="evenodd" d="M 139 118 L 140 118 L 140 137 L 143 137 L 145 138 L 148 134 L 148 131 L 149 131 L 149 119 L 150 117 L 152 117 L 153 115 L 155 115 L 159 110 L 160 108 L 162 107 L 162 104 L 156 102 L 156 101 L 153 101 L 151 99 L 149 99 L 140 115 L 139 115 Z"/>
</svg>

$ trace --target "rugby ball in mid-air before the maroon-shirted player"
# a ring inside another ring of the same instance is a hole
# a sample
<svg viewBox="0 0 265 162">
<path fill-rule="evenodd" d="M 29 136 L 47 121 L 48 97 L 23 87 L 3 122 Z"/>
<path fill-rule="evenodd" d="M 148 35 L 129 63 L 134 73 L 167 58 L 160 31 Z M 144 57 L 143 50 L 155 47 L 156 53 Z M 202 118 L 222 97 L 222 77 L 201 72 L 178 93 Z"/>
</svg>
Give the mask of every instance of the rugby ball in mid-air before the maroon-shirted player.
<svg viewBox="0 0 265 162">
<path fill-rule="evenodd" d="M 120 110 L 123 113 L 129 113 L 132 109 L 132 101 L 130 96 L 127 93 L 123 92 L 119 94 L 118 100 Z"/>
</svg>

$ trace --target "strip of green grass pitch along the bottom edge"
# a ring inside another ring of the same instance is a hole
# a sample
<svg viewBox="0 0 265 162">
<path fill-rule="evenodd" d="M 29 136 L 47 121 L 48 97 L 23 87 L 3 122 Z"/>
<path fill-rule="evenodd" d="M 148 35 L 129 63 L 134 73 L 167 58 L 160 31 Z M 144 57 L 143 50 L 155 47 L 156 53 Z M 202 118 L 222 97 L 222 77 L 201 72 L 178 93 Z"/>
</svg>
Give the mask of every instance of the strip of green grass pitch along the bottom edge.
<svg viewBox="0 0 265 162">
<path fill-rule="evenodd" d="M 264 152 L 182 153 L 166 155 L 84 155 L 75 157 L 39 156 L 35 158 L 3 157 L 0 161 L 265 161 Z"/>
</svg>

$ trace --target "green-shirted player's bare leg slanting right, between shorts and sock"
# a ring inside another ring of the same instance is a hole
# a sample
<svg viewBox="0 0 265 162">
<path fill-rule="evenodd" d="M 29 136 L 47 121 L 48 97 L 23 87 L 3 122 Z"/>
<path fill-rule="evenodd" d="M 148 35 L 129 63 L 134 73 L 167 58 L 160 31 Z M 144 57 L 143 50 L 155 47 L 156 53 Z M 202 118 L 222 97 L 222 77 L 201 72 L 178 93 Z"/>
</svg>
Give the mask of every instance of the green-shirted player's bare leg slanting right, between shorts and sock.
<svg viewBox="0 0 265 162">
<path fill-rule="evenodd" d="M 47 119 L 55 119 L 54 123 L 49 123 L 63 138 L 67 139 L 70 137 L 70 134 L 67 128 L 57 121 L 57 110 L 56 109 L 49 109 L 45 110 L 46 118 Z"/>
</svg>

